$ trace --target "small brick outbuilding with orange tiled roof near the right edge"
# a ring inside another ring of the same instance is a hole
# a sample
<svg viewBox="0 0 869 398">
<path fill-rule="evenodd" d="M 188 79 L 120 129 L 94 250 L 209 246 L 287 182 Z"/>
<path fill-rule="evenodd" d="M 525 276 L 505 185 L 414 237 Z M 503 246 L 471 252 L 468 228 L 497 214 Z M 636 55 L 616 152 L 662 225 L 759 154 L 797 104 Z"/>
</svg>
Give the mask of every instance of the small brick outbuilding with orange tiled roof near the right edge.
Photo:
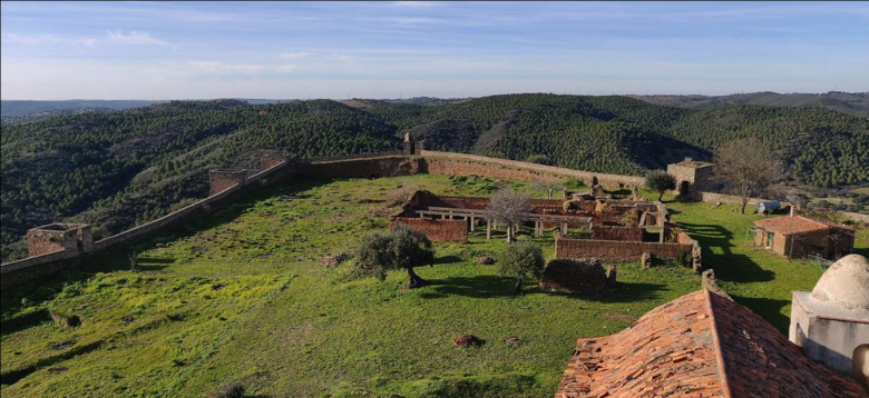
<svg viewBox="0 0 869 398">
<path fill-rule="evenodd" d="M 788 258 L 837 259 L 853 251 L 855 230 L 800 216 L 754 221 L 754 246 Z"/>
</svg>

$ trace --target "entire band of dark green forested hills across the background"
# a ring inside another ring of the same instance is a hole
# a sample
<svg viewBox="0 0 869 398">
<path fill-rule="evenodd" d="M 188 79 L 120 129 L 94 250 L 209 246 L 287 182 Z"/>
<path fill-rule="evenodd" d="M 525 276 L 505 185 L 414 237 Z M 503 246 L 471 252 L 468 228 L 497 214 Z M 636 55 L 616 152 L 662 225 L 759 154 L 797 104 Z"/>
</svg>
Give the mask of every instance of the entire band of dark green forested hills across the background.
<svg viewBox="0 0 869 398">
<path fill-rule="evenodd" d="M 642 175 L 723 142 L 761 138 L 795 180 L 869 181 L 869 120 L 820 108 L 683 109 L 626 97 L 494 96 L 432 106 L 355 100 L 250 105 L 173 101 L 2 128 L 2 256 L 28 228 L 84 221 L 97 238 L 208 192 L 207 170 L 258 167 L 264 150 L 320 157 L 397 149 L 411 130 L 429 149 Z"/>
</svg>

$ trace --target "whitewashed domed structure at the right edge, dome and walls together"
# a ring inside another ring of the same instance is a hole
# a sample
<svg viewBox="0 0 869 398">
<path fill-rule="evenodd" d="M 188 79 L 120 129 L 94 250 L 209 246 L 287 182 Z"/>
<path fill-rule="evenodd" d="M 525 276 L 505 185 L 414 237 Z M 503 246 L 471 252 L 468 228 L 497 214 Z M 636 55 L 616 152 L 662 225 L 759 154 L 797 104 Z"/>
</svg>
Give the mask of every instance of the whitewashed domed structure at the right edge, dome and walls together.
<svg viewBox="0 0 869 398">
<path fill-rule="evenodd" d="M 842 257 L 811 292 L 794 291 L 789 339 L 805 356 L 866 386 L 869 379 L 869 261 Z"/>
</svg>

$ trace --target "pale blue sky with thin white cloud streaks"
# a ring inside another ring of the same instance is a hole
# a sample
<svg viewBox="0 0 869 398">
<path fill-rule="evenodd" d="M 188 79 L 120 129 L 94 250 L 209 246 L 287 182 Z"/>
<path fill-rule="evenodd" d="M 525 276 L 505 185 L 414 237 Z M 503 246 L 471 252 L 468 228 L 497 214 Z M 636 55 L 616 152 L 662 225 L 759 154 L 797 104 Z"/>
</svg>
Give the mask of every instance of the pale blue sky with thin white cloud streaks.
<svg viewBox="0 0 869 398">
<path fill-rule="evenodd" d="M 10 99 L 869 91 L 867 2 L 0 2 Z"/>
</svg>

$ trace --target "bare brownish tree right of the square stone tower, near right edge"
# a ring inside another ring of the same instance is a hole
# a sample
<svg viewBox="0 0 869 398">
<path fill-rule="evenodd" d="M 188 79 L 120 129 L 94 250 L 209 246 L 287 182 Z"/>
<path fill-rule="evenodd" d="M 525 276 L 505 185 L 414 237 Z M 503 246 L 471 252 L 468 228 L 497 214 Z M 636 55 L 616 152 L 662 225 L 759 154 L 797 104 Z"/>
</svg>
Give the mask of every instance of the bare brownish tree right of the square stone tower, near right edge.
<svg viewBox="0 0 869 398">
<path fill-rule="evenodd" d="M 715 180 L 729 193 L 741 198 L 743 215 L 749 198 L 762 192 L 784 173 L 781 161 L 756 138 L 725 143 L 719 148 L 714 161 Z"/>
</svg>

